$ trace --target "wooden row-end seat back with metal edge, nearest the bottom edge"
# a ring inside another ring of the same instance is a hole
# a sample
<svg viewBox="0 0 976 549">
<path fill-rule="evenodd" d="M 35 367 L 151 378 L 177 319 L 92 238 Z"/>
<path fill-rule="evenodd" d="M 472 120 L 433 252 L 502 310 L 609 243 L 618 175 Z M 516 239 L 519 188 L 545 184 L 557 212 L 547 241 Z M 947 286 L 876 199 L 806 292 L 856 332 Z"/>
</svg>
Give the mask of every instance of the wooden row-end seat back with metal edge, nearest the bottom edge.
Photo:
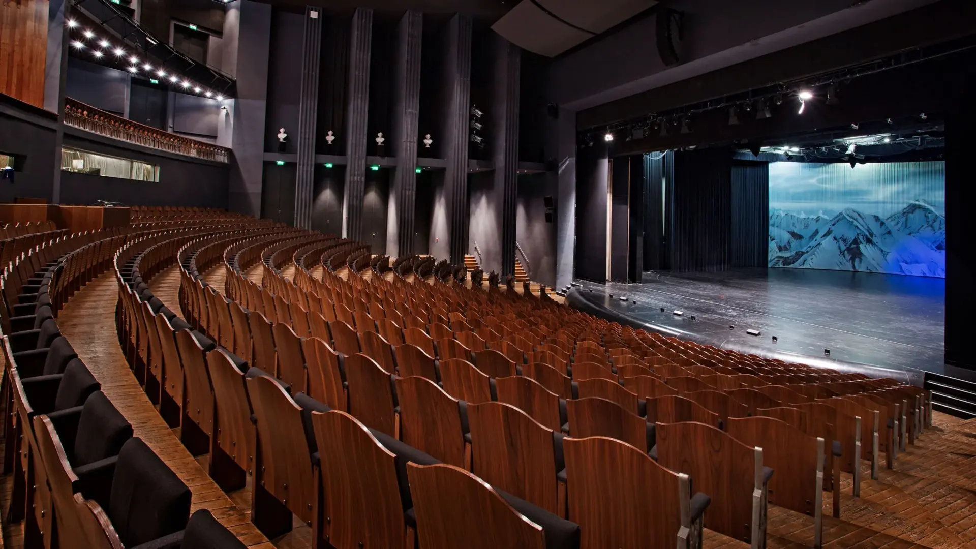
<svg viewBox="0 0 976 549">
<path fill-rule="evenodd" d="M 633 540 L 641 547 L 700 544 L 710 498 L 701 492 L 692 496 L 687 475 L 611 439 L 574 438 L 563 444 L 569 520 L 580 525 L 581 549 L 632 547 Z"/>
</svg>

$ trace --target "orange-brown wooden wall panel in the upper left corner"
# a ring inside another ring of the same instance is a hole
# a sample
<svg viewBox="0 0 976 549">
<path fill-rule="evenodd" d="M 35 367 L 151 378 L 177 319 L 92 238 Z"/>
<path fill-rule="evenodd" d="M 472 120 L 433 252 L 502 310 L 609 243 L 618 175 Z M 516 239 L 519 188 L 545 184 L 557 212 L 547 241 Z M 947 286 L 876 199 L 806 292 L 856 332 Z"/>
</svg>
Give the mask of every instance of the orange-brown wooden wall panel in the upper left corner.
<svg viewBox="0 0 976 549">
<path fill-rule="evenodd" d="M 0 93 L 44 106 L 48 0 L 0 3 Z"/>
</svg>

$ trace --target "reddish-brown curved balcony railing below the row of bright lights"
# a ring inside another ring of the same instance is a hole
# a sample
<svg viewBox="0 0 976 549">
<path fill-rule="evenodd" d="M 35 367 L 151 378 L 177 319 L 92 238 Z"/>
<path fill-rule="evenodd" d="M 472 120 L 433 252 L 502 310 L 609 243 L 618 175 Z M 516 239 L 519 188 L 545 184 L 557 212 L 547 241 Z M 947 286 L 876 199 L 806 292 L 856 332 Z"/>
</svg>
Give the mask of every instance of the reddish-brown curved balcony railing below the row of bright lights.
<svg viewBox="0 0 976 549">
<path fill-rule="evenodd" d="M 151 126 L 65 98 L 64 123 L 108 138 L 194 158 L 229 162 L 230 149 L 164 132 Z"/>
</svg>

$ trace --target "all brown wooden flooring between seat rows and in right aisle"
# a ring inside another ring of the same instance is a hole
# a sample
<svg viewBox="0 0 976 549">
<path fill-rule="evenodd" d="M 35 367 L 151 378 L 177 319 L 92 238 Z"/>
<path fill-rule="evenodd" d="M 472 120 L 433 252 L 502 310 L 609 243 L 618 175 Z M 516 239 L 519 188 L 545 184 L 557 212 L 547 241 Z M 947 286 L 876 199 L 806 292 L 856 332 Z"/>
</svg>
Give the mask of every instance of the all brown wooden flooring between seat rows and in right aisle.
<svg viewBox="0 0 976 549">
<path fill-rule="evenodd" d="M 294 274 L 283 270 L 285 274 Z M 260 282 L 261 267 L 246 275 Z M 313 274 L 319 274 L 313 272 Z M 289 276 L 290 277 L 290 276 Z M 224 288 L 224 270 L 215 269 L 204 278 Z M 173 267 L 158 274 L 150 284 L 153 293 L 170 309 L 181 313 L 178 301 L 180 274 Z M 193 490 L 193 509 L 210 509 L 246 544 L 262 549 L 312 547 L 311 529 L 296 519 L 296 528 L 267 543 L 247 520 L 250 487 L 224 494 L 206 475 L 206 457 L 193 459 L 173 431 L 159 417 L 142 393 L 119 349 L 114 331 L 115 281 L 102 275 L 79 292 L 61 312 L 61 331 L 102 383 L 102 390 L 133 423 L 142 437 Z M 2 445 L 0 445 L 2 448 Z M 777 471 L 776 475 L 789 474 Z M 870 480 L 870 464 L 864 464 L 861 497 L 851 496 L 851 476 L 842 475 L 841 518 L 831 516 L 831 501 L 825 493 L 824 547 L 830 549 L 976 548 L 976 420 L 962 421 L 936 412 L 933 427 L 926 430 L 905 452 L 900 452 L 893 470 L 879 470 Z M 10 477 L 0 482 L 0 503 L 6 511 Z M 5 513 L 4 513 L 5 514 Z M 813 519 L 771 505 L 767 546 L 772 549 L 809 547 Z M 7 547 L 22 545 L 20 525 L 4 524 Z M 709 549 L 738 549 L 746 543 L 711 530 L 705 532 Z M 0 545 L 3 547 L 3 545 Z"/>
</svg>

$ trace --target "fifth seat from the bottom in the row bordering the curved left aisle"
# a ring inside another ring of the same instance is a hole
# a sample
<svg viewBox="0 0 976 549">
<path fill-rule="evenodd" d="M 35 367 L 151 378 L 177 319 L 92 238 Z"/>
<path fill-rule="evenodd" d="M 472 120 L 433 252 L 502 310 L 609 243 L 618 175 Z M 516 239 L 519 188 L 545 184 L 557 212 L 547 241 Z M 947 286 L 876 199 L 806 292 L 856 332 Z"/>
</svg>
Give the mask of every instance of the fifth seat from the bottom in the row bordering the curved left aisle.
<svg viewBox="0 0 976 549">
<path fill-rule="evenodd" d="M 214 429 L 214 393 L 205 355 L 216 345 L 196 331 L 176 332 L 177 349 L 183 363 L 183 417 L 180 440 L 194 455 L 210 451 Z"/>
</svg>

